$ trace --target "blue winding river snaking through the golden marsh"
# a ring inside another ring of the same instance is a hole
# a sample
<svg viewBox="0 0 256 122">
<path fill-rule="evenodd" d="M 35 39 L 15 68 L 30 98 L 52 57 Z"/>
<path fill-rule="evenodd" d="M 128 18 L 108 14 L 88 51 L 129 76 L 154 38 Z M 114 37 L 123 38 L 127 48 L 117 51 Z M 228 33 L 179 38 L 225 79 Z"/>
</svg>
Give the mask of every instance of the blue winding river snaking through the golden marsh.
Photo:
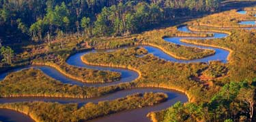
<svg viewBox="0 0 256 122">
<path fill-rule="evenodd" d="M 182 26 L 178 28 L 179 31 L 184 31 L 186 33 L 193 33 L 190 30 L 188 30 L 187 26 Z M 197 59 L 197 60 L 177 60 L 168 54 L 165 54 L 165 52 L 162 52 L 160 49 L 156 47 L 151 46 L 145 46 L 145 49 L 147 49 L 148 53 L 154 54 L 154 56 L 157 56 L 158 58 L 162 58 L 164 60 L 168 60 L 171 62 L 180 62 L 180 63 L 190 63 L 190 62 L 210 62 L 212 60 L 220 60 L 223 63 L 227 62 L 227 56 L 229 55 L 229 52 L 225 49 L 219 49 L 215 47 L 205 47 L 200 45 L 193 45 L 188 43 L 183 43 L 180 41 L 181 39 L 216 39 L 216 38 L 224 38 L 228 35 L 225 33 L 214 33 L 214 37 L 171 37 L 166 38 L 165 41 L 168 41 L 170 43 L 175 43 L 178 45 L 186 45 L 186 46 L 192 46 L 192 47 L 199 47 L 203 49 L 214 49 L 216 54 L 213 56 L 208 56 L 205 58 Z M 25 68 L 38 68 L 42 70 L 43 73 L 48 75 L 49 77 L 52 77 L 53 79 L 56 79 L 58 81 L 61 81 L 62 83 L 70 83 L 72 85 L 85 85 L 89 87 L 102 87 L 106 85 L 116 85 L 118 83 L 124 83 L 124 82 L 131 82 L 134 81 L 134 79 L 137 79 L 139 77 L 138 73 L 132 71 L 132 70 L 126 70 L 121 68 L 109 68 L 109 67 L 102 67 L 102 66 L 89 66 L 87 64 L 84 64 L 81 61 L 81 56 L 96 52 L 96 50 L 92 50 L 89 52 L 82 52 L 74 54 L 73 56 L 70 56 L 68 60 L 66 61 L 68 64 L 73 66 L 79 66 L 79 67 L 85 67 L 85 68 L 92 68 L 96 70 L 111 70 L 115 72 L 119 72 L 122 74 L 122 79 L 119 81 L 115 81 L 112 83 L 100 83 L 100 84 L 91 84 L 91 83 L 81 83 L 79 81 L 76 81 L 74 79 L 69 79 L 65 75 L 62 75 L 59 73 L 55 68 L 51 68 L 49 66 L 26 66 L 23 68 L 16 68 L 15 70 L 23 70 Z M 139 57 L 138 57 L 139 58 Z M 8 75 L 7 73 L 3 73 L 0 75 L 0 80 L 4 79 L 5 76 Z M 101 117 L 99 119 L 94 119 L 92 121 L 150 121 L 146 117 L 147 113 L 150 113 L 151 111 L 155 110 L 162 110 L 164 108 L 168 108 L 169 106 L 173 105 L 175 102 L 181 101 L 181 102 L 188 102 L 188 98 L 185 94 L 180 93 L 179 91 L 173 91 L 170 89 L 159 89 L 159 88 L 151 88 L 151 87 L 145 87 L 141 89 L 129 89 L 124 91 L 117 91 L 113 94 L 109 94 L 107 96 L 102 96 L 100 98 L 88 98 L 88 99 L 79 99 L 79 98 L 0 98 L 0 103 L 11 103 L 11 102 L 32 102 L 32 101 L 44 101 L 44 102 L 59 102 L 61 104 L 66 103 L 78 103 L 79 106 L 83 106 L 83 104 L 86 104 L 87 102 L 94 102 L 97 103 L 102 100 L 114 100 L 116 98 L 123 98 L 129 94 L 134 93 L 144 93 L 148 91 L 153 92 L 163 92 L 165 94 L 168 94 L 169 98 L 167 102 L 163 102 L 161 104 L 158 104 L 156 106 L 149 106 L 145 108 L 138 108 L 134 110 L 127 110 L 121 113 L 116 113 L 113 115 L 109 115 L 106 117 Z M 17 119 L 15 119 L 18 117 Z M 33 121 L 26 115 L 23 115 L 21 113 L 17 113 L 13 110 L 7 110 L 7 109 L 0 109 L 0 121 Z"/>
</svg>

